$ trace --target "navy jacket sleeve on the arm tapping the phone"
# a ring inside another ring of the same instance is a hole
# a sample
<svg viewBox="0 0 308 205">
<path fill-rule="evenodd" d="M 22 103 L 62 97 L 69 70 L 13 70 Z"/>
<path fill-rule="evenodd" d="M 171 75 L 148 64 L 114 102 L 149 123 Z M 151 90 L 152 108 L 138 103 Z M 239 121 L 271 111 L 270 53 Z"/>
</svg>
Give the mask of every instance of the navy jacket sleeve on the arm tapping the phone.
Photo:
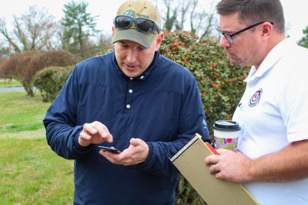
<svg viewBox="0 0 308 205">
<path fill-rule="evenodd" d="M 83 126 L 76 125 L 79 101 L 77 79 L 74 69 L 43 120 L 48 145 L 57 155 L 66 159 L 76 159 L 92 147 L 82 147 L 78 143 Z"/>
</svg>

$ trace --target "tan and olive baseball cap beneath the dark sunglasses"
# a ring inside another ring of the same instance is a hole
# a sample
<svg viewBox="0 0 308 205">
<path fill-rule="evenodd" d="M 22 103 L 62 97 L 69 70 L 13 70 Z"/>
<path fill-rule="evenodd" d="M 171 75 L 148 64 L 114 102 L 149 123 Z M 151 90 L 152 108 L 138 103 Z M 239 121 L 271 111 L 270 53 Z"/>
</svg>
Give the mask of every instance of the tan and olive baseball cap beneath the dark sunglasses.
<svg viewBox="0 0 308 205">
<path fill-rule="evenodd" d="M 134 18 L 147 18 L 161 27 L 161 18 L 156 6 L 145 0 L 129 0 L 118 9 L 117 15 L 127 15 Z M 128 29 L 115 28 L 112 35 L 112 44 L 122 40 L 136 42 L 145 48 L 149 48 L 156 33 L 138 31 L 136 22 L 132 22 Z"/>
</svg>

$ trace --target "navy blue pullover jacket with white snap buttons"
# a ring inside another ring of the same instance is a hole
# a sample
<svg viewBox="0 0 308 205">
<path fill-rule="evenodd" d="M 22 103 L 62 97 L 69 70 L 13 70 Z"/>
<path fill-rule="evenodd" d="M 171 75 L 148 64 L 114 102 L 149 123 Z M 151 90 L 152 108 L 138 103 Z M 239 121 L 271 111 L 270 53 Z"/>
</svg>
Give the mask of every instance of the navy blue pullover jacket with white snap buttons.
<svg viewBox="0 0 308 205">
<path fill-rule="evenodd" d="M 127 77 L 114 51 L 75 66 L 44 118 L 51 149 L 74 159 L 74 204 L 174 204 L 178 170 L 169 157 L 199 133 L 209 141 L 195 77 L 156 52 L 140 76 Z M 98 145 L 82 147 L 85 123 L 100 121 L 113 146 L 128 148 L 132 137 L 149 146 L 145 162 L 113 165 Z"/>
</svg>

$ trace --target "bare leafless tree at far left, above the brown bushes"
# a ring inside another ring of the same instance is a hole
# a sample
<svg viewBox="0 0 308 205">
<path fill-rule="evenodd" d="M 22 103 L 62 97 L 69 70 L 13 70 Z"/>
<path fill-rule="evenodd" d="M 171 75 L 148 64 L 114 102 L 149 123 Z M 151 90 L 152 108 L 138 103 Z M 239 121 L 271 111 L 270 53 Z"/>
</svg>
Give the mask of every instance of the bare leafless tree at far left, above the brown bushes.
<svg viewBox="0 0 308 205">
<path fill-rule="evenodd" d="M 47 9 L 38 10 L 36 6 L 30 6 L 20 17 L 14 15 L 13 18 L 12 32 L 8 32 L 5 19 L 0 19 L 0 34 L 15 53 L 52 50 L 58 46 L 54 38 L 57 29 L 54 16 L 49 15 Z"/>
</svg>

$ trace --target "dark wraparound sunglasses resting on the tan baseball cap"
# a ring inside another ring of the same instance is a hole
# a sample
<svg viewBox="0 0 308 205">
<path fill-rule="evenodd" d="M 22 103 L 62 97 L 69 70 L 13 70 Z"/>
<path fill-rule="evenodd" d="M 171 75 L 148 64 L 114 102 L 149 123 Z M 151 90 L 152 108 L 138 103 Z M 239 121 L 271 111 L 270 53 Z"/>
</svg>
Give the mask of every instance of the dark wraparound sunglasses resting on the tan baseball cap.
<svg viewBox="0 0 308 205">
<path fill-rule="evenodd" d="M 154 33 L 157 31 L 157 33 L 159 33 L 158 25 L 147 18 L 133 18 L 130 16 L 118 15 L 115 16 L 113 20 L 115 28 L 119 29 L 128 29 L 132 22 L 136 24 L 138 31 L 145 33 Z"/>
</svg>

